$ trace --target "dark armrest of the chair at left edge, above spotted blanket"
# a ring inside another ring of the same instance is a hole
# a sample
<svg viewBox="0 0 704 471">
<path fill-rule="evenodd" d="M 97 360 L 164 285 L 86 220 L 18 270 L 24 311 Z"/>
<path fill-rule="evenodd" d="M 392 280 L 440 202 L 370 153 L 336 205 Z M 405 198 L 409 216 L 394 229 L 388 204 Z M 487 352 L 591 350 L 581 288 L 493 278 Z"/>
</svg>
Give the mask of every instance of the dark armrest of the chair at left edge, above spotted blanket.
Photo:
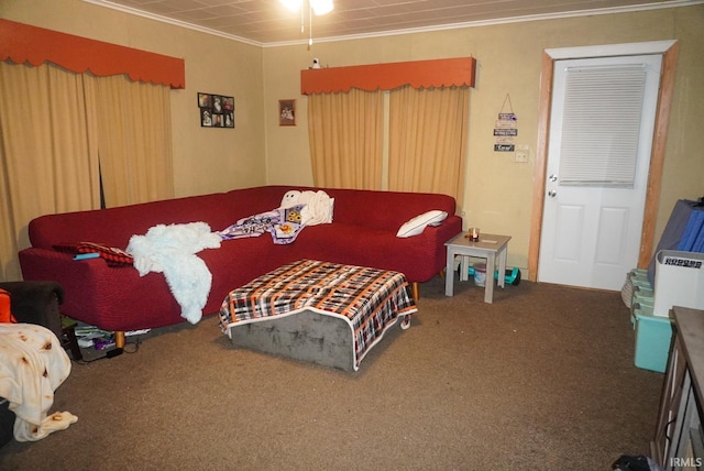
<svg viewBox="0 0 704 471">
<path fill-rule="evenodd" d="M 59 306 L 64 302 L 64 287 L 56 282 L 0 283 L 11 296 L 11 310 L 19 322 L 36 324 L 62 333 Z M 61 337 L 59 337 L 61 338 Z"/>
</svg>

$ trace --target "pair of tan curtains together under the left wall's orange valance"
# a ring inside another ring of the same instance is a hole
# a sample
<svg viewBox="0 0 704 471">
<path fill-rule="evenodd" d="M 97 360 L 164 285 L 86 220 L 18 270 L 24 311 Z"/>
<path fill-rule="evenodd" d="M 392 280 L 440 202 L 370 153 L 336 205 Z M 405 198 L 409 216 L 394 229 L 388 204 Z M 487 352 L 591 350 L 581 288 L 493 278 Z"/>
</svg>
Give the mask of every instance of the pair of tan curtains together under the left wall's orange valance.
<svg viewBox="0 0 704 471">
<path fill-rule="evenodd" d="M 169 87 L 0 62 L 0 281 L 42 215 L 174 196 Z"/>
</svg>

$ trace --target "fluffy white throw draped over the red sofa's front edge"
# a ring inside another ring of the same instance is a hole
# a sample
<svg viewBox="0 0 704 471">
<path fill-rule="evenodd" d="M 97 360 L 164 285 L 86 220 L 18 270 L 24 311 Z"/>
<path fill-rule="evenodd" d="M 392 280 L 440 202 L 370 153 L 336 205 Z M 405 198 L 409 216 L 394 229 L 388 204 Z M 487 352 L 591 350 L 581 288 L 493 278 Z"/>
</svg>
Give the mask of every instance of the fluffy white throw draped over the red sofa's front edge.
<svg viewBox="0 0 704 471">
<path fill-rule="evenodd" d="M 144 276 L 164 273 L 182 317 L 190 324 L 202 318 L 208 302 L 212 274 L 206 262 L 196 256 L 204 249 L 218 249 L 220 236 L 206 222 L 157 224 L 144 236 L 132 236 L 127 252 L 134 258 L 134 267 Z"/>
</svg>

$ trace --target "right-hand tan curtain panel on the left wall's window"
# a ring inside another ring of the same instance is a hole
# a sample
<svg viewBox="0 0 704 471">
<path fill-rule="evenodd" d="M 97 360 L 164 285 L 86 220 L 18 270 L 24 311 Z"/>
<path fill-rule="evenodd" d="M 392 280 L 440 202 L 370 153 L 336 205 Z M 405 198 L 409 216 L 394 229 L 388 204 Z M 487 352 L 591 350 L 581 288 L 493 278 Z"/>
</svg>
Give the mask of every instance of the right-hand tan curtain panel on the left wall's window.
<svg viewBox="0 0 704 471">
<path fill-rule="evenodd" d="M 95 97 L 107 207 L 174 196 L 169 88 L 124 75 L 86 77 Z"/>
</svg>

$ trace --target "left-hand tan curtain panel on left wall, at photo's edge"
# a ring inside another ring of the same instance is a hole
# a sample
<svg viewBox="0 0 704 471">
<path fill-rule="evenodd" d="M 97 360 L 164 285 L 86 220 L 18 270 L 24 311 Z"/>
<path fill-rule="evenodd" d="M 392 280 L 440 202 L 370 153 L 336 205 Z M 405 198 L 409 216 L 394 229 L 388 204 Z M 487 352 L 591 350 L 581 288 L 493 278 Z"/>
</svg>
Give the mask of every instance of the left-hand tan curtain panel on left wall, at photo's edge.
<svg viewBox="0 0 704 471">
<path fill-rule="evenodd" d="M 100 207 L 98 141 L 84 76 L 0 62 L 0 280 L 21 278 L 30 220 Z"/>
</svg>

